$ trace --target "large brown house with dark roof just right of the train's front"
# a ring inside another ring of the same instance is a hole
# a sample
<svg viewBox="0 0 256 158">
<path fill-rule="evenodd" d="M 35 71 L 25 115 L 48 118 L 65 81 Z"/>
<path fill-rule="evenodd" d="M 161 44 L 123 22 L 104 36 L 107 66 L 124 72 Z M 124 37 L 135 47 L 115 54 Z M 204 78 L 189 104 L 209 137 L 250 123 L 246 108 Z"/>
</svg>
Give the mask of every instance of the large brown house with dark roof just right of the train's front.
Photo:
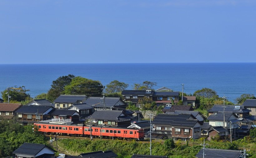
<svg viewBox="0 0 256 158">
<path fill-rule="evenodd" d="M 192 114 L 158 114 L 152 123 L 154 135 L 183 140 L 201 135 L 201 124 Z"/>
</svg>

